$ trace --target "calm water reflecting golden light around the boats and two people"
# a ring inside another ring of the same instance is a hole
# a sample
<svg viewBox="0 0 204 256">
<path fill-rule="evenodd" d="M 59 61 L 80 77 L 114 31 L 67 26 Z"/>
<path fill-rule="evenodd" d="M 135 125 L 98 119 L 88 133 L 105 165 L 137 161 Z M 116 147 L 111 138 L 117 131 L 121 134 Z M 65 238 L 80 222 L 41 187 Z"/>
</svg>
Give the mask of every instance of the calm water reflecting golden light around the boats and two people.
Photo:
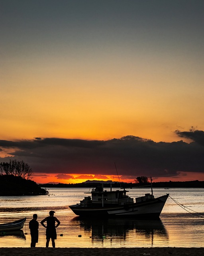
<svg viewBox="0 0 204 256">
<path fill-rule="evenodd" d="M 57 228 L 56 247 L 204 247 L 204 189 L 203 188 L 155 188 L 154 195 L 169 193 L 187 212 L 171 198 L 167 199 L 160 220 L 134 219 L 82 220 L 68 205 L 84 198 L 87 188 L 49 188 L 49 196 L 0 196 L 0 223 L 27 217 L 21 232 L 0 236 L 0 247 L 29 247 L 28 223 L 33 213 L 38 221 L 55 210 L 61 221 Z M 128 195 L 135 198 L 151 193 L 149 188 L 130 189 Z M 202 218 L 197 213 L 202 213 Z M 63 236 L 60 236 L 63 234 Z M 81 236 L 78 236 L 81 235 Z M 37 247 L 45 247 L 45 228 L 39 225 Z"/>
</svg>

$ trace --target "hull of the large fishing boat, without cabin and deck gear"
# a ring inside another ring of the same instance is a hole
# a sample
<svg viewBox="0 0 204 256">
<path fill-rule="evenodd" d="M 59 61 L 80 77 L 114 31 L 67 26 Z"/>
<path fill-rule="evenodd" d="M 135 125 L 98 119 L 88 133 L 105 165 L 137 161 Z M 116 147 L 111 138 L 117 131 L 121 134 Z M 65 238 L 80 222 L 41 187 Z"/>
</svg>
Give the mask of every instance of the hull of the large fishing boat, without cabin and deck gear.
<svg viewBox="0 0 204 256">
<path fill-rule="evenodd" d="M 83 217 L 136 217 L 136 218 L 159 218 L 169 194 L 147 200 L 145 202 L 131 203 L 109 207 L 82 207 L 79 204 L 69 208 L 78 216 Z"/>
</svg>

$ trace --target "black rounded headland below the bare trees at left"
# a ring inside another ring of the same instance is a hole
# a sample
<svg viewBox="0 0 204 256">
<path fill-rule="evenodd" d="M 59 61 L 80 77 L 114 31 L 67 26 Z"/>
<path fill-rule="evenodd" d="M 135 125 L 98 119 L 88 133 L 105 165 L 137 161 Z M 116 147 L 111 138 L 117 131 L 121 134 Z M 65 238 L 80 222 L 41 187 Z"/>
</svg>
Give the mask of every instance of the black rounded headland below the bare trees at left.
<svg viewBox="0 0 204 256">
<path fill-rule="evenodd" d="M 37 196 L 47 193 L 47 190 L 33 180 L 14 175 L 0 175 L 0 196 Z"/>
</svg>

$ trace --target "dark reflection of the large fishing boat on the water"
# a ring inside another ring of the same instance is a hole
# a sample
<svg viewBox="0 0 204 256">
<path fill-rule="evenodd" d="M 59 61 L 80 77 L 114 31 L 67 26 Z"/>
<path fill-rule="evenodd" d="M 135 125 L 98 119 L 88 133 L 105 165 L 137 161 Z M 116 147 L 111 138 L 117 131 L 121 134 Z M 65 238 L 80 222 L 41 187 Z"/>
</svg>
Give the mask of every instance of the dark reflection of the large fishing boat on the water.
<svg viewBox="0 0 204 256">
<path fill-rule="evenodd" d="M 169 240 L 169 236 L 163 222 L 159 220 L 135 220 L 124 218 L 88 219 L 75 217 L 73 221 L 78 222 L 84 232 L 90 232 L 90 238 L 103 240 L 113 238 L 126 240 L 128 234 L 135 233 L 137 240 Z"/>
</svg>

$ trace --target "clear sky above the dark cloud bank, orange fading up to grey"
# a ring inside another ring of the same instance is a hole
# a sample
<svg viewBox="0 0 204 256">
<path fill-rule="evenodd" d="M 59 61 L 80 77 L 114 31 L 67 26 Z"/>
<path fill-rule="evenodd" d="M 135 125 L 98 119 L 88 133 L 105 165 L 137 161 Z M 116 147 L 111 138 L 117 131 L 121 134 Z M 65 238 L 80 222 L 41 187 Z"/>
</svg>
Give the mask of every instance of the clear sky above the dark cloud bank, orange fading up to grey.
<svg viewBox="0 0 204 256">
<path fill-rule="evenodd" d="M 199 5 L 34 3 L 2 3 L 1 139 L 204 129 Z"/>
</svg>

